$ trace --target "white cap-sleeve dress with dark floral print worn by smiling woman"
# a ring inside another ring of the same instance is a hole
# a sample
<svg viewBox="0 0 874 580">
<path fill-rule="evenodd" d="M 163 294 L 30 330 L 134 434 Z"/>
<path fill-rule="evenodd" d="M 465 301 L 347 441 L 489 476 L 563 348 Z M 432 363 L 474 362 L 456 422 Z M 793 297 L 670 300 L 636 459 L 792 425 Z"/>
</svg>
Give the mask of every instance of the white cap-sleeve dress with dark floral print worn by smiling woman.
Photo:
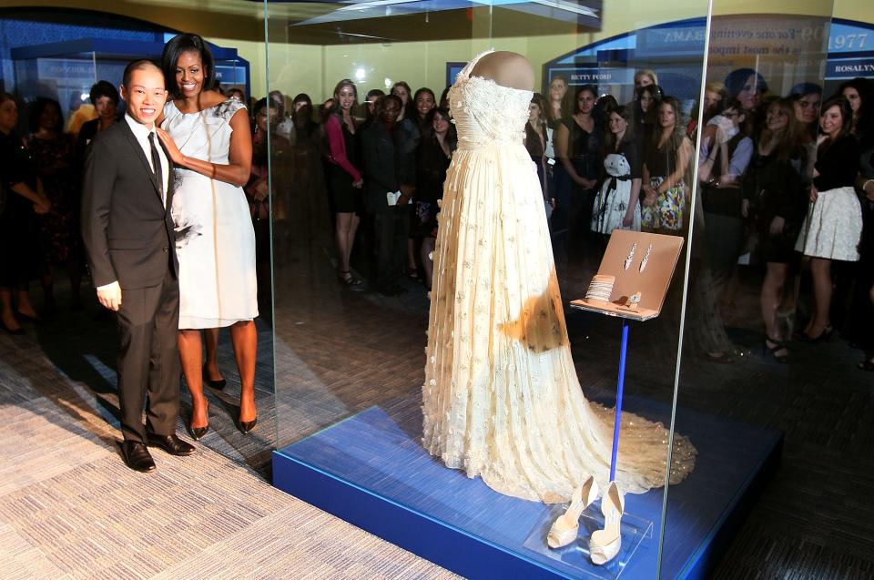
<svg viewBox="0 0 874 580">
<path fill-rule="evenodd" d="M 245 106 L 230 99 L 183 114 L 171 101 L 161 127 L 182 154 L 228 164 L 230 119 Z M 179 328 L 229 326 L 258 316 L 255 231 L 243 189 L 177 168 L 171 209 L 179 259 Z"/>
</svg>

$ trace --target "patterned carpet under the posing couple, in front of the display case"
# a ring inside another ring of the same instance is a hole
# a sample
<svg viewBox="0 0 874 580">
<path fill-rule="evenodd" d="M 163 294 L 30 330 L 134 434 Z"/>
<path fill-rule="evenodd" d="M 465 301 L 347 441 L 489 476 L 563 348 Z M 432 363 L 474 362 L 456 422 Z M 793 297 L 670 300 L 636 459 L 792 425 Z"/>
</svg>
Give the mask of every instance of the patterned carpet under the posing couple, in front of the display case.
<svg viewBox="0 0 874 580">
<path fill-rule="evenodd" d="M 239 392 L 230 373 L 197 454 L 153 451 L 155 473 L 127 469 L 113 329 L 91 321 L 94 311 L 0 336 L 4 579 L 456 577 L 273 488 L 253 467 L 269 458 L 271 393 L 259 390 L 259 427 L 243 436 L 230 418 Z M 269 336 L 262 329 L 262 351 Z M 227 368 L 229 356 L 223 348 Z"/>
</svg>

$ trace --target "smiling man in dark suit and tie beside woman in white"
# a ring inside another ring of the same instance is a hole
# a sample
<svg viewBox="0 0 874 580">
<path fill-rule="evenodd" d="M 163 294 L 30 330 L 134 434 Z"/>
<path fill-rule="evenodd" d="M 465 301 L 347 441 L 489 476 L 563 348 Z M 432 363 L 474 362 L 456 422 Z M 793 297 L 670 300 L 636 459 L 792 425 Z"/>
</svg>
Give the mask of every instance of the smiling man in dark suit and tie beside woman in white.
<svg viewBox="0 0 874 580">
<path fill-rule="evenodd" d="M 194 447 L 178 439 L 178 261 L 173 166 L 155 132 L 167 100 L 164 76 L 149 60 L 125 68 L 125 118 L 97 134 L 85 160 L 82 236 L 97 299 L 117 312 L 121 444 L 131 469 L 149 472 L 147 445 L 173 455 Z M 142 412 L 147 422 L 143 427 Z"/>
</svg>

